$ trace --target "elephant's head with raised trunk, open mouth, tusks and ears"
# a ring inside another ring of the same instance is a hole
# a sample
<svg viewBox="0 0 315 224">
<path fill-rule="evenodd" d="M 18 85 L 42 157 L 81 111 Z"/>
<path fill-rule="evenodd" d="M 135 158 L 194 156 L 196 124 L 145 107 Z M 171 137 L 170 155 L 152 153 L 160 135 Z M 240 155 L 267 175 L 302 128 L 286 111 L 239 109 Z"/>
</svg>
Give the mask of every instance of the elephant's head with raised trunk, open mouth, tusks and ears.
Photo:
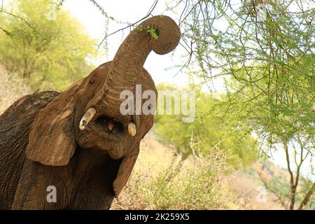
<svg viewBox="0 0 315 224">
<path fill-rule="evenodd" d="M 152 28 L 158 38 L 148 33 Z M 120 113 L 125 100 L 120 99 L 120 93 L 130 90 L 136 96 L 137 84 L 142 92 L 157 93 L 144 62 L 151 50 L 160 55 L 172 51 L 179 38 L 179 27 L 167 16 L 142 22 L 120 45 L 112 62 L 99 66 L 38 113 L 29 134 L 27 158 L 43 165 L 64 166 L 77 146 L 107 151 L 113 159 L 123 158 L 118 177 L 124 177 L 117 183 L 118 195 L 137 159 L 139 143 L 153 125 L 152 114 Z"/>
</svg>

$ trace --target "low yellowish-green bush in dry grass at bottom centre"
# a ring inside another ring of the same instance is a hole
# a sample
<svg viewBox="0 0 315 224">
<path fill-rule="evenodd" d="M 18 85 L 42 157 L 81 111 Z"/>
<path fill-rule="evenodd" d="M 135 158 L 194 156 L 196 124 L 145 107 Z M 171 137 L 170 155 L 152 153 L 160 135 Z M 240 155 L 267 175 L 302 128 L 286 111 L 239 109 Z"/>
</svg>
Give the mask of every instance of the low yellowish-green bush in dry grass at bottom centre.
<svg viewBox="0 0 315 224">
<path fill-rule="evenodd" d="M 144 197 L 154 209 L 223 209 L 221 179 L 227 170 L 223 158 L 208 155 L 195 169 L 181 173 L 182 163 L 173 160 L 156 179 L 144 186 Z"/>
</svg>

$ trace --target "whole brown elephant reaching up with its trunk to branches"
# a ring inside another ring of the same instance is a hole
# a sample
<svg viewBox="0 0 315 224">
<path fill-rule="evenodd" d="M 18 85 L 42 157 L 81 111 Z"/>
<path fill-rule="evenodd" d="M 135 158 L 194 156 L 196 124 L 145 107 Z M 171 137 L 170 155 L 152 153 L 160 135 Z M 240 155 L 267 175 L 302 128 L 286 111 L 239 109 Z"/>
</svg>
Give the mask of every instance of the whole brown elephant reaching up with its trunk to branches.
<svg viewBox="0 0 315 224">
<path fill-rule="evenodd" d="M 153 113 L 121 113 L 120 92 L 135 94 L 141 85 L 158 94 L 144 62 L 151 50 L 174 50 L 180 37 L 172 18 L 148 18 L 111 62 L 64 92 L 34 92 L 6 109 L 0 116 L 0 209 L 110 209 L 154 122 Z"/>
</svg>

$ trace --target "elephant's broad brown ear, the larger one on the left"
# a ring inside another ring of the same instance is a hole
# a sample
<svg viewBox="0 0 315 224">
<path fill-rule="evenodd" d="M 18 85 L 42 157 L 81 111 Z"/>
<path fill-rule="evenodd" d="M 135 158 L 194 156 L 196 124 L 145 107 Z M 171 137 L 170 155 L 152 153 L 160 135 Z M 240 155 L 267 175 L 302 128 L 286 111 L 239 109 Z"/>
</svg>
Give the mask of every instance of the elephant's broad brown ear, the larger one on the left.
<svg viewBox="0 0 315 224">
<path fill-rule="evenodd" d="M 76 150 L 73 97 L 76 83 L 38 112 L 29 132 L 27 159 L 43 165 L 64 166 Z"/>
</svg>

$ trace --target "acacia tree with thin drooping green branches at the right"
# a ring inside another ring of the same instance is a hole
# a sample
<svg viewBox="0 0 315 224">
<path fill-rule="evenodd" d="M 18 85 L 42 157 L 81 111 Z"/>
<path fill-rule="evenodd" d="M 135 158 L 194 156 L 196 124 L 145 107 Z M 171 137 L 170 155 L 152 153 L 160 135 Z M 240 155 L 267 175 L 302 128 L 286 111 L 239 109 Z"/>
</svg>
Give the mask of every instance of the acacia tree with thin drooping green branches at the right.
<svg viewBox="0 0 315 224">
<path fill-rule="evenodd" d="M 251 125 L 262 153 L 282 148 L 290 192 L 288 201 L 279 198 L 287 209 L 303 209 L 315 190 L 309 167 L 313 182 L 296 206 L 302 164 L 314 158 L 314 2 L 179 3 L 187 6 L 180 23 L 193 73 L 202 83 L 224 78 L 221 117 Z"/>
</svg>

